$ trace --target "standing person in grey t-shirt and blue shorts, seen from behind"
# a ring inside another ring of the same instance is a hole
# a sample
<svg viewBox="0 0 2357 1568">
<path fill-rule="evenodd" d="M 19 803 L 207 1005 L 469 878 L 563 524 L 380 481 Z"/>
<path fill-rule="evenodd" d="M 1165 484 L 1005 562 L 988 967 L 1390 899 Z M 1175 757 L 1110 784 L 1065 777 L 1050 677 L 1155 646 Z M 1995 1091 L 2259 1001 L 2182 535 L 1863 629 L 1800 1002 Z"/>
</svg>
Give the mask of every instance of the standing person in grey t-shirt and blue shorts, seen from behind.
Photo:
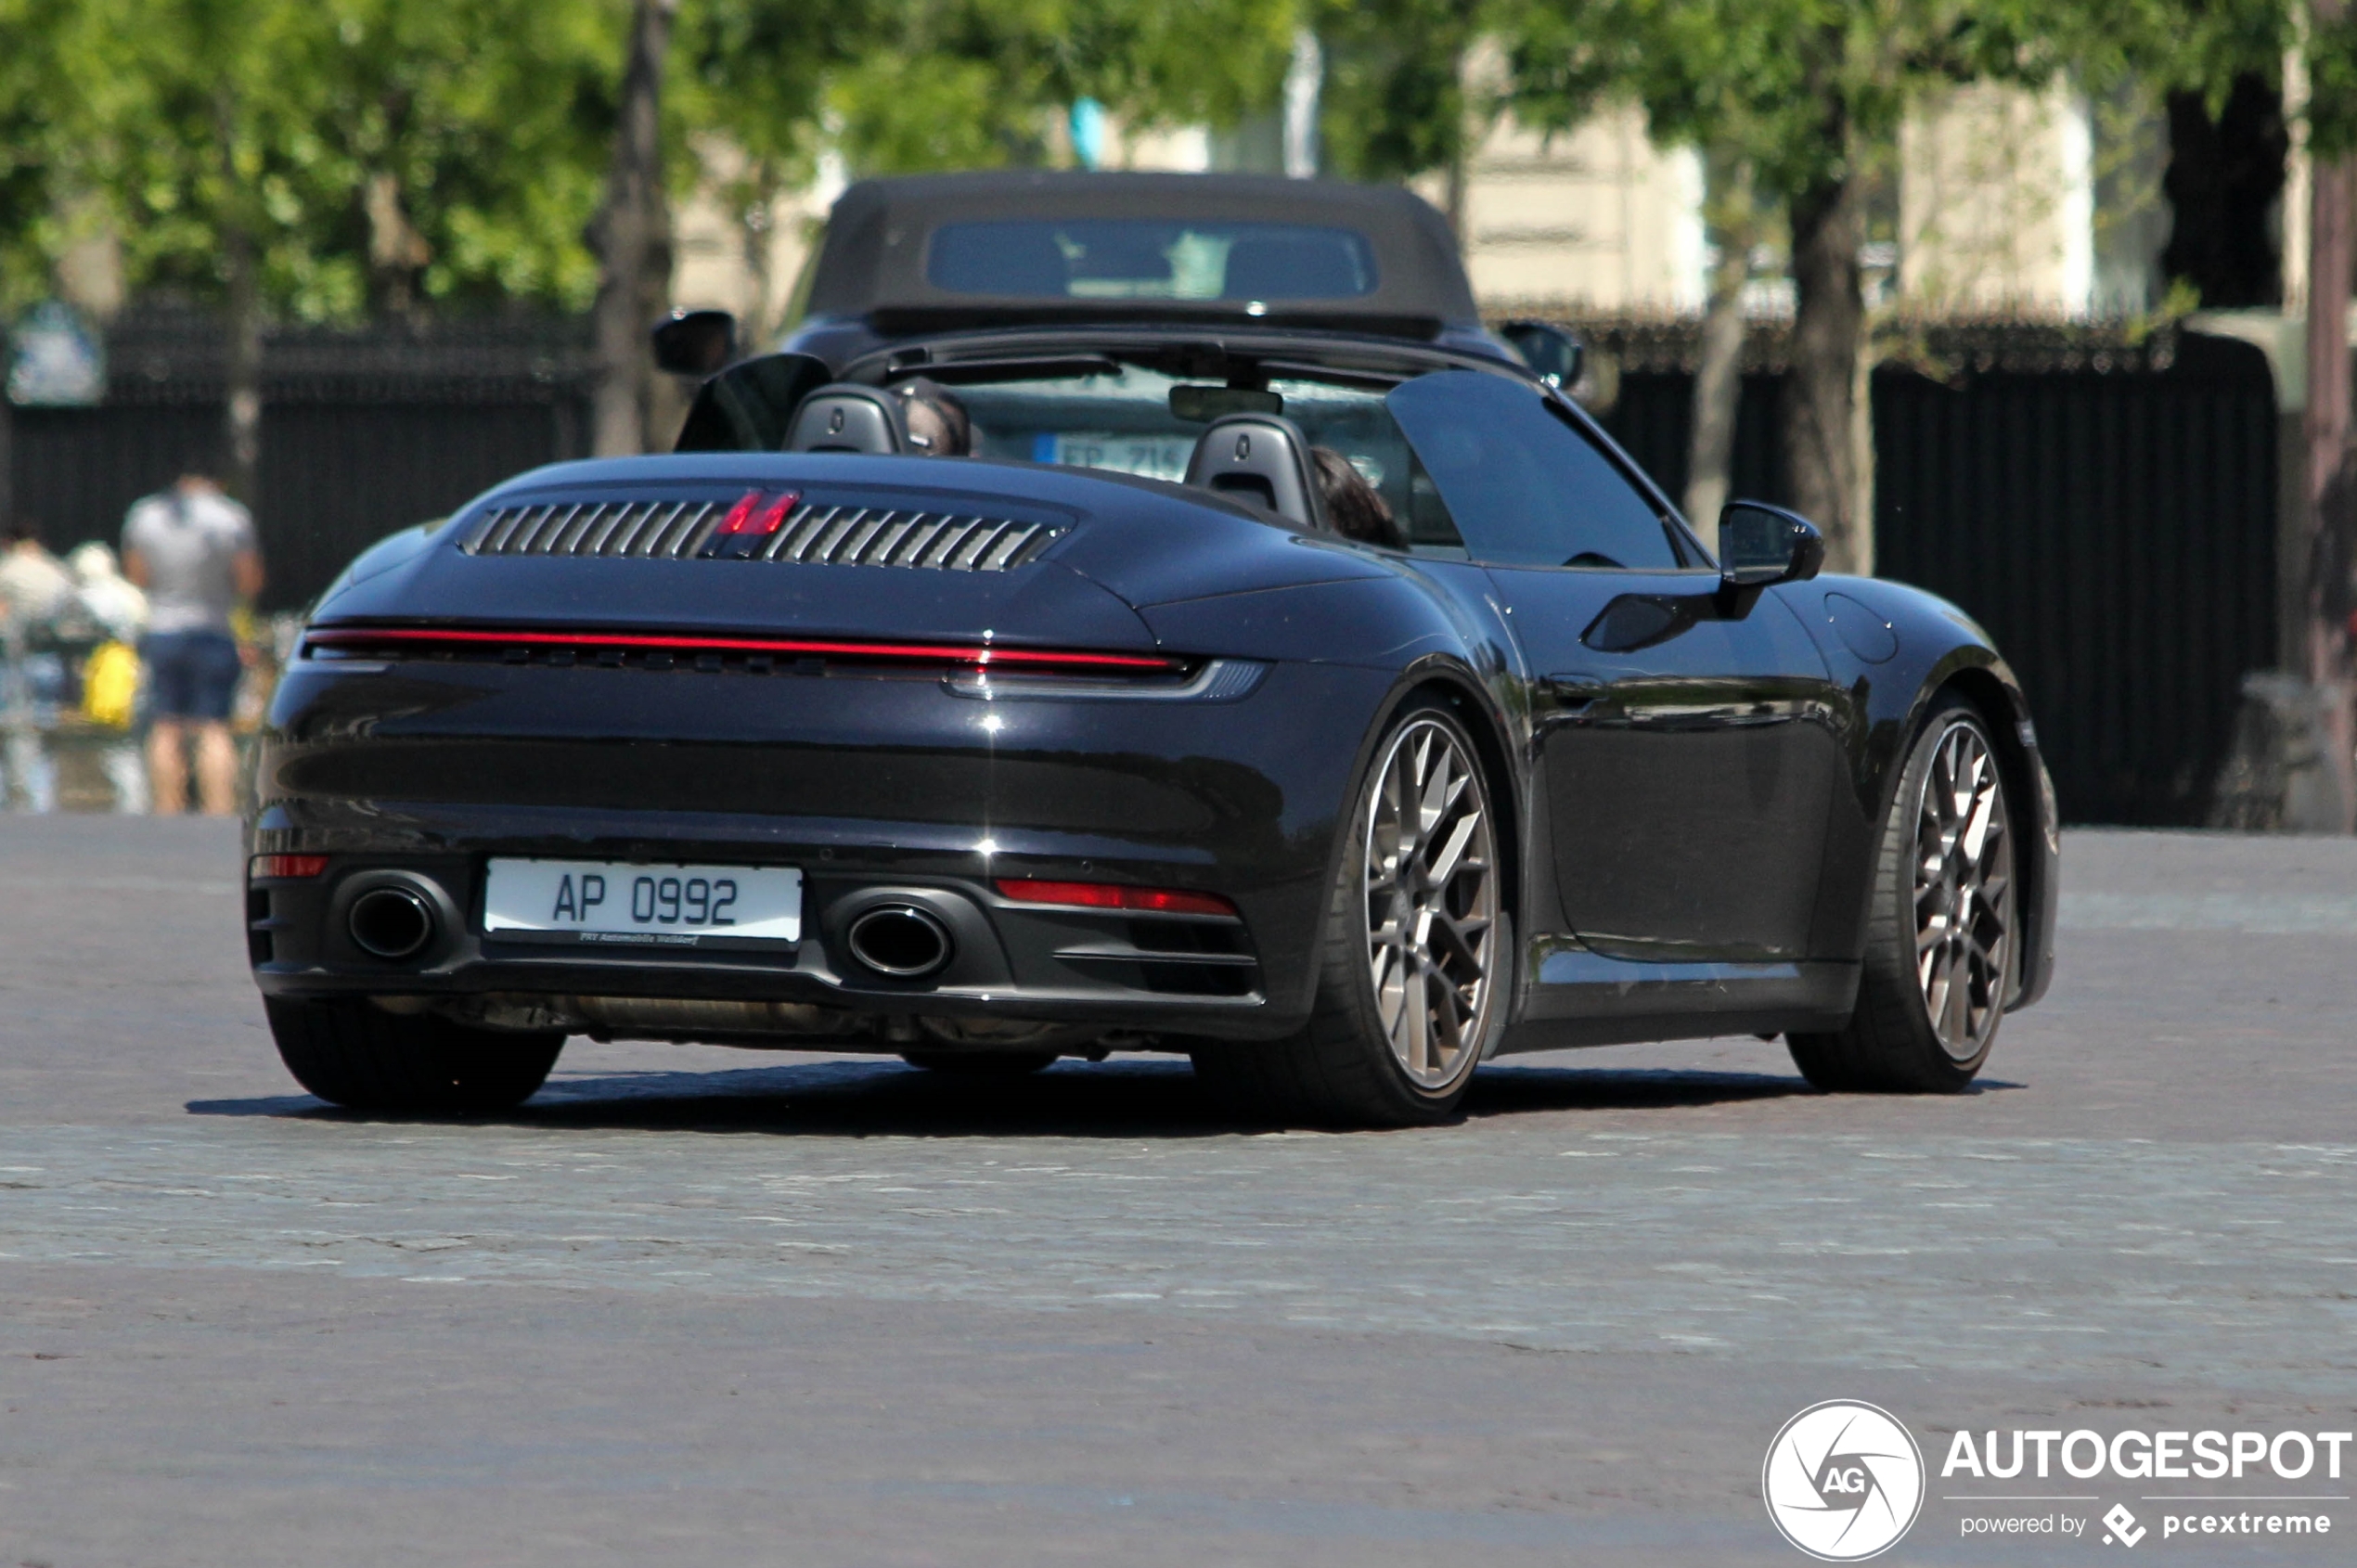
<svg viewBox="0 0 2357 1568">
<path fill-rule="evenodd" d="M 262 592 L 255 516 L 210 476 L 181 474 L 170 490 L 132 502 L 123 519 L 123 568 L 148 594 L 141 653 L 156 811 L 186 811 L 193 738 L 198 802 L 205 813 L 226 816 L 238 804 L 229 705 L 245 667 L 229 618 Z"/>
</svg>

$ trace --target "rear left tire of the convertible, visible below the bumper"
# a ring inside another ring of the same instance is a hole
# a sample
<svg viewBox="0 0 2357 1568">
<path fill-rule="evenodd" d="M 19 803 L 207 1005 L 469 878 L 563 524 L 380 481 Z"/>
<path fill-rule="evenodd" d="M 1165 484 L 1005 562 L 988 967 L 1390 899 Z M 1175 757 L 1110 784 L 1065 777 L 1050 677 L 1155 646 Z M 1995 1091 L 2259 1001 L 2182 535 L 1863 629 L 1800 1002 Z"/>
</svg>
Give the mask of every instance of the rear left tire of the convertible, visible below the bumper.
<svg viewBox="0 0 2357 1568">
<path fill-rule="evenodd" d="M 547 1082 L 566 1047 L 556 1033 L 467 1028 L 363 1000 L 262 1004 L 295 1082 L 346 1111 L 511 1111 Z"/>
</svg>

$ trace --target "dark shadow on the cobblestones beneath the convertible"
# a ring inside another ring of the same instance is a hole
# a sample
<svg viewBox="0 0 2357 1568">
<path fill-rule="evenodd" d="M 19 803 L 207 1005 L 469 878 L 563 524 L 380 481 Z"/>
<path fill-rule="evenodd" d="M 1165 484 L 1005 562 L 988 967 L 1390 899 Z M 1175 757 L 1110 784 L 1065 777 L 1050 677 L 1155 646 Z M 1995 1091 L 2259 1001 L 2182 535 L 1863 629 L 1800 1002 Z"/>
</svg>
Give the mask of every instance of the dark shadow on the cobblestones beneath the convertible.
<svg viewBox="0 0 2357 1568">
<path fill-rule="evenodd" d="M 1987 1085 L 2001 1087 L 2001 1085 Z M 1794 1073 L 1681 1068 L 1485 1066 L 1466 1120 L 1572 1111 L 1673 1111 L 1815 1099 Z M 363 1115 L 309 1094 L 189 1101 L 191 1115 L 354 1122 L 469 1122 L 625 1132 L 768 1132 L 804 1137 L 1223 1137 L 1266 1132 L 1214 1101 L 1183 1061 L 1063 1061 L 1030 1078 L 926 1073 L 900 1061 L 811 1061 L 721 1073 L 559 1070 L 528 1103 L 490 1118 Z"/>
</svg>

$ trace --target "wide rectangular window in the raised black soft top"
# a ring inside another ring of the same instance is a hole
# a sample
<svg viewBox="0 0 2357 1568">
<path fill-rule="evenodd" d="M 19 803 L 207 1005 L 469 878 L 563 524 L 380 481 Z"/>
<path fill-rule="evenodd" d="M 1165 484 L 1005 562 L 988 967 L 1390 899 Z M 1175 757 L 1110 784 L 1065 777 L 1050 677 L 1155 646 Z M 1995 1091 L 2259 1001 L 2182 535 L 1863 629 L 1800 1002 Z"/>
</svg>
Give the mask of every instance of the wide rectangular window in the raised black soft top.
<svg viewBox="0 0 2357 1568">
<path fill-rule="evenodd" d="M 1014 299 L 1358 299 L 1374 248 L 1308 224 L 995 219 L 936 229 L 924 278 Z"/>
</svg>

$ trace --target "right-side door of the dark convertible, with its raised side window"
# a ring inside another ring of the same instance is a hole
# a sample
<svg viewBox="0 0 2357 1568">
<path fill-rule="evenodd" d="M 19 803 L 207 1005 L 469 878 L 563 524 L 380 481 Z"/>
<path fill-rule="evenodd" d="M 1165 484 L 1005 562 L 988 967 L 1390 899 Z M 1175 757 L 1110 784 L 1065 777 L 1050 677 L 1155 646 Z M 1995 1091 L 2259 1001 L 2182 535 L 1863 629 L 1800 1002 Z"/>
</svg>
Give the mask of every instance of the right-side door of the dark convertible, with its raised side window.
<svg viewBox="0 0 2357 1568">
<path fill-rule="evenodd" d="M 1702 552 L 1537 389 L 1391 394 L 1525 653 L 1563 915 L 1629 960 L 1801 960 L 1841 778 L 1827 665 L 1775 589 Z"/>
</svg>

